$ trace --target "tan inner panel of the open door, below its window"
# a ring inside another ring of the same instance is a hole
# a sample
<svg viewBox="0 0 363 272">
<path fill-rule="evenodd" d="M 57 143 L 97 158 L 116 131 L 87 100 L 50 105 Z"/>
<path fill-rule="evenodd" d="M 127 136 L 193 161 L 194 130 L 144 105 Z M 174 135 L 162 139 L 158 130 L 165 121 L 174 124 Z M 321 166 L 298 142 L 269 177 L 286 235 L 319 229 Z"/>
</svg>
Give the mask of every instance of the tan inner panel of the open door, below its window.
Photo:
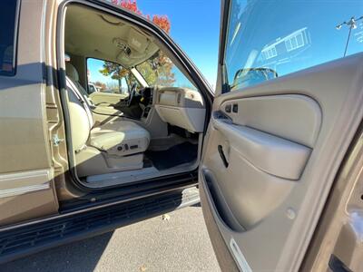
<svg viewBox="0 0 363 272">
<path fill-rule="evenodd" d="M 361 63 L 359 53 L 214 100 L 202 207 L 240 269 L 299 269 L 363 117 Z"/>
</svg>

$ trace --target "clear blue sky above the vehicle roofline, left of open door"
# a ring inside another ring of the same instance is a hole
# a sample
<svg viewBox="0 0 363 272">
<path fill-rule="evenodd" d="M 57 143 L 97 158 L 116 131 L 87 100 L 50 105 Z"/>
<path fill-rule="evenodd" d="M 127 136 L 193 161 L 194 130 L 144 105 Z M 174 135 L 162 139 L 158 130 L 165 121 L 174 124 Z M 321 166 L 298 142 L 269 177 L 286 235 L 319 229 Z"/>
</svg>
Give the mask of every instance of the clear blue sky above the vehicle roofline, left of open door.
<svg viewBox="0 0 363 272">
<path fill-rule="evenodd" d="M 211 86 L 217 79 L 220 0 L 137 0 L 143 15 L 167 15 L 173 40 L 201 70 Z M 102 63 L 89 60 L 91 81 L 107 81 L 98 71 Z M 182 77 L 178 77 L 178 81 Z"/>
</svg>

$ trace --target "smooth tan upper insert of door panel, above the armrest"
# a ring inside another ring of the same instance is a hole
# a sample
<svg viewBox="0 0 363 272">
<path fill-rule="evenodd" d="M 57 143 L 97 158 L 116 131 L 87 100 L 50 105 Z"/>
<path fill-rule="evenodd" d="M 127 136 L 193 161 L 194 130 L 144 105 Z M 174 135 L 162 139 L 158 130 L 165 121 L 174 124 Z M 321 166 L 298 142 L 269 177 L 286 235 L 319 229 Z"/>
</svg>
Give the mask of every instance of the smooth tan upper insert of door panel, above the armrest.
<svg viewBox="0 0 363 272">
<path fill-rule="evenodd" d="M 237 105 L 238 113 L 226 112 L 228 105 Z M 222 102 L 220 109 L 235 124 L 265 131 L 308 147 L 314 146 L 321 126 L 319 103 L 307 95 L 281 94 L 233 99 Z"/>
</svg>

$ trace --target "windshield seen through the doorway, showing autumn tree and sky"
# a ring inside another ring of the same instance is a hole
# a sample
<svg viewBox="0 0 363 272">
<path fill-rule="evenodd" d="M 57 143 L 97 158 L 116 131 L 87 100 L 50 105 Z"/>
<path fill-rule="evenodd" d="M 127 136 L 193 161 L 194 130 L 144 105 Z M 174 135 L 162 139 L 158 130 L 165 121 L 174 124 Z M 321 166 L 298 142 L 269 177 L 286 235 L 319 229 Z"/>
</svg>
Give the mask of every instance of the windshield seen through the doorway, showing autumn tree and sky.
<svg viewBox="0 0 363 272">
<path fill-rule="evenodd" d="M 150 59 L 137 65 L 136 70 L 149 86 L 181 87 L 196 90 L 188 78 L 172 63 L 162 51 L 155 53 Z"/>
</svg>

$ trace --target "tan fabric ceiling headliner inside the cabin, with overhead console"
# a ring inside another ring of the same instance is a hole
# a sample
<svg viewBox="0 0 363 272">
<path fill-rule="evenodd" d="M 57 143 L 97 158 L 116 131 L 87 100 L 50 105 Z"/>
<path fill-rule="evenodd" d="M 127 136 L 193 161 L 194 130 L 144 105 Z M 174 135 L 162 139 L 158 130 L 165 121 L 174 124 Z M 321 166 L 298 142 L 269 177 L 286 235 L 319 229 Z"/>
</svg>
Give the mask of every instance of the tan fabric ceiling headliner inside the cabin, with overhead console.
<svg viewBox="0 0 363 272">
<path fill-rule="evenodd" d="M 69 5 L 65 16 L 66 53 L 133 67 L 159 50 L 155 39 L 120 18 L 83 5 Z"/>
</svg>

